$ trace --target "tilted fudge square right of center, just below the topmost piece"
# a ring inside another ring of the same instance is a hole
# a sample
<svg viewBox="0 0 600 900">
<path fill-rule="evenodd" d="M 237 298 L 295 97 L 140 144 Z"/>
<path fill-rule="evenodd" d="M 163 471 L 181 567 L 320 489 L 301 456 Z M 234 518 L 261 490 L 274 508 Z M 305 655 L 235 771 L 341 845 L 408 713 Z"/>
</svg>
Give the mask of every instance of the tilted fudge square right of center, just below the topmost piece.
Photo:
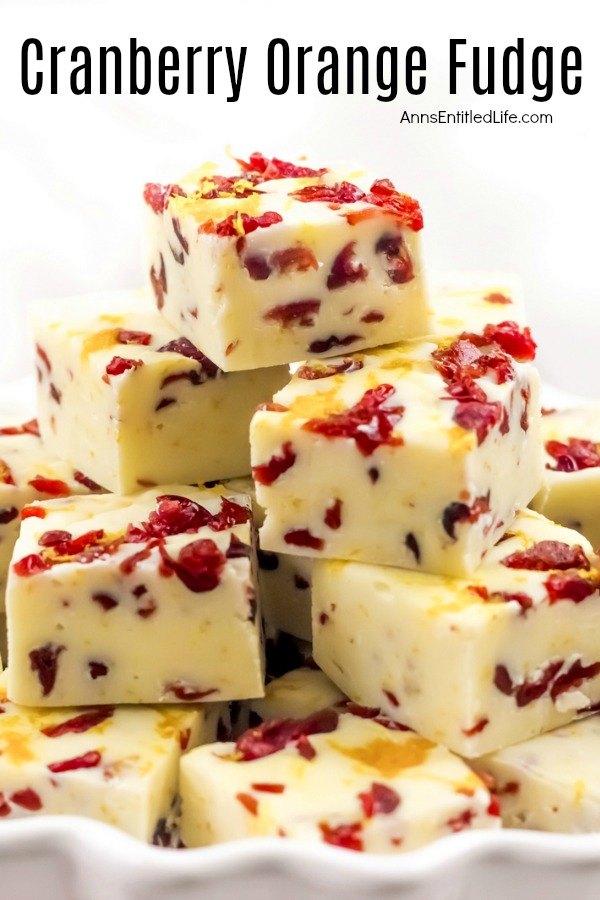
<svg viewBox="0 0 600 900">
<path fill-rule="evenodd" d="M 472 572 L 541 481 L 513 322 L 302 365 L 252 419 L 262 550 Z"/>
</svg>

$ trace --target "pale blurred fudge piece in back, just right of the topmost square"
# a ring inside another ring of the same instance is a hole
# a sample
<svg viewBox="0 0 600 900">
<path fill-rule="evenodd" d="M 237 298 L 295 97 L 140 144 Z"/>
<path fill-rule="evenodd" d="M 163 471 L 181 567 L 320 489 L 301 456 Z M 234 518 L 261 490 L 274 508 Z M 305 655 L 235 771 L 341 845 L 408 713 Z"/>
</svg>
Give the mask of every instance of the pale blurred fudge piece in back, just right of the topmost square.
<svg viewBox="0 0 600 900">
<path fill-rule="evenodd" d="M 506 319 L 527 325 L 523 290 L 514 275 L 457 272 L 431 275 L 428 281 L 432 334 L 454 337 Z"/>
</svg>

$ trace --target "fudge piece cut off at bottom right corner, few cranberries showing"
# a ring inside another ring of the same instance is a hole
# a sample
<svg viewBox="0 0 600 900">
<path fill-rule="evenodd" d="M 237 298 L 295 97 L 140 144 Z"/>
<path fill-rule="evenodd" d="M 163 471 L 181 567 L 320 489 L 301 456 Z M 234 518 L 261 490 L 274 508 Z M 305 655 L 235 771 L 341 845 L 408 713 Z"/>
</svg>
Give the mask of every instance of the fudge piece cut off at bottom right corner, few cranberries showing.
<svg viewBox="0 0 600 900">
<path fill-rule="evenodd" d="M 474 760 L 492 776 L 507 828 L 600 831 L 600 716 Z"/>
</svg>

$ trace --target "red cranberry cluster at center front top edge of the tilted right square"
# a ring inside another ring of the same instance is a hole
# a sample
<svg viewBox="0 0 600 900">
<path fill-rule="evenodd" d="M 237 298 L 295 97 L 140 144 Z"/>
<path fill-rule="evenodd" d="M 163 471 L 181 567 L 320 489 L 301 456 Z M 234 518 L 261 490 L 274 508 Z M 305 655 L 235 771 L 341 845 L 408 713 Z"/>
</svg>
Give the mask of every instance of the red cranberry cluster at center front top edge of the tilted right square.
<svg viewBox="0 0 600 900">
<path fill-rule="evenodd" d="M 363 456 L 370 456 L 382 445 L 400 447 L 403 440 L 393 434 L 393 429 L 402 418 L 404 407 L 383 406 L 394 393 L 391 384 L 380 384 L 366 391 L 346 412 L 326 419 L 309 419 L 302 427 L 329 438 L 351 438 Z"/>
</svg>

